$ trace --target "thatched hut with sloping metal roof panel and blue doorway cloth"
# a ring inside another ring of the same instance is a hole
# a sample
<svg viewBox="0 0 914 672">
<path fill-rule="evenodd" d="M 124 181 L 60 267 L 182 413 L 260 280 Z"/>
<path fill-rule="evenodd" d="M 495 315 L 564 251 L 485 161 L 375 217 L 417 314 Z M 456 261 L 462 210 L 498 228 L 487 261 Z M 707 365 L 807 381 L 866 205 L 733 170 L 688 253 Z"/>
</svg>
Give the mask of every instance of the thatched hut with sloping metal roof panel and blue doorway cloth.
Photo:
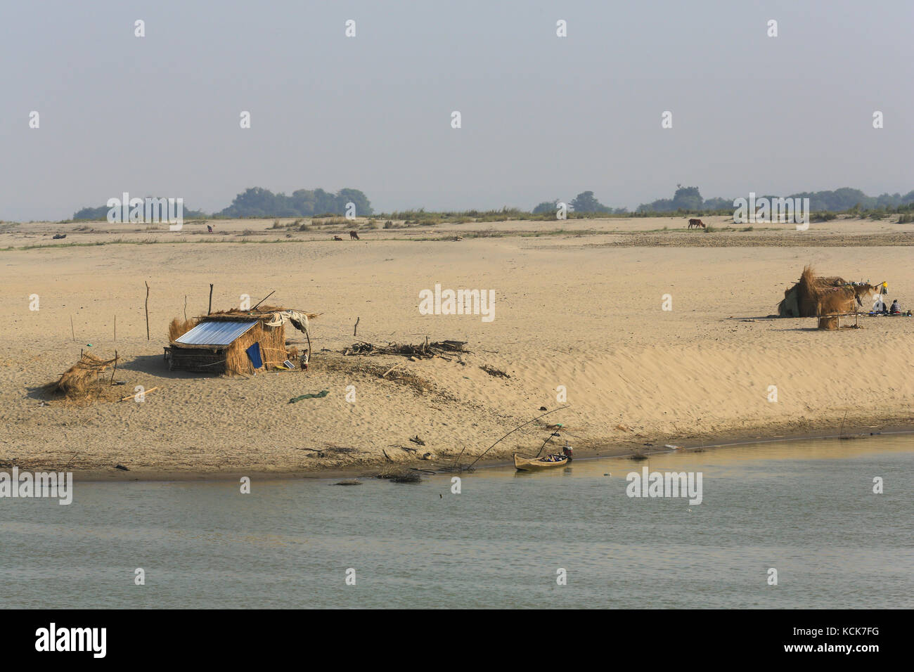
<svg viewBox="0 0 914 672">
<path fill-rule="evenodd" d="M 294 361 L 298 351 L 286 347 L 285 325 L 301 331 L 310 343 L 308 321 L 316 316 L 267 305 L 201 315 L 196 325 L 175 320 L 169 326 L 165 361 L 170 369 L 228 375 L 287 370 L 284 362 Z"/>
</svg>

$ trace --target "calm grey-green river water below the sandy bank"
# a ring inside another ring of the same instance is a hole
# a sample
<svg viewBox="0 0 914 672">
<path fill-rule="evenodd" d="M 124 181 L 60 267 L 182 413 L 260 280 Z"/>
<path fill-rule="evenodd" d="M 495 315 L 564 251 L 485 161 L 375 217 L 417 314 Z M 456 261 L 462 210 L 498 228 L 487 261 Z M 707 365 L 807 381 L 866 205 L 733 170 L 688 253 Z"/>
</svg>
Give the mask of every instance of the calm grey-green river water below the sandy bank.
<svg viewBox="0 0 914 672">
<path fill-rule="evenodd" d="M 704 501 L 626 496 L 644 464 L 701 472 Z M 460 495 L 77 483 L 0 499 L 0 607 L 912 607 L 912 481 L 914 437 L 883 436 L 484 469 Z"/>
</svg>

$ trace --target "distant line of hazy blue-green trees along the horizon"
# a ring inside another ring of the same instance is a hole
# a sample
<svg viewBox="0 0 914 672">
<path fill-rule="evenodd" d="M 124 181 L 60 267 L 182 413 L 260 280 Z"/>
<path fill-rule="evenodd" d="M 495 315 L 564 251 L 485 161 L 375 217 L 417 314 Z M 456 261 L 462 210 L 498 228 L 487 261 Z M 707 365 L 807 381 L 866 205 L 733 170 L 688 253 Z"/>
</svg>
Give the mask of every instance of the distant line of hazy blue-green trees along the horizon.
<svg viewBox="0 0 914 672">
<path fill-rule="evenodd" d="M 746 195 L 748 197 L 748 194 Z M 778 198 L 771 195 L 758 195 L 757 198 Z M 860 189 L 842 187 L 834 191 L 806 191 L 791 194 L 787 198 L 809 198 L 810 210 L 816 212 L 848 212 L 879 210 L 886 208 L 904 208 L 914 204 L 914 189 L 905 195 L 901 194 L 881 194 L 879 196 L 866 196 Z M 343 188 L 335 194 L 324 191 L 324 189 L 297 189 L 290 196 L 280 192 L 274 194 L 269 189 L 262 187 L 249 187 L 239 193 L 227 208 L 223 208 L 212 215 L 202 210 L 191 210 L 185 208 L 184 216 L 186 219 L 244 219 L 244 218 L 290 218 L 290 217 L 314 217 L 316 215 L 345 215 L 347 204 L 355 204 L 355 214 L 357 217 L 367 217 L 374 215 L 374 210 L 368 197 L 359 189 Z M 533 215 L 547 217 L 550 213 L 555 213 L 558 208 L 558 198 L 551 201 L 543 201 L 535 208 L 530 210 Z M 594 196 L 592 191 L 582 191 L 578 196 L 572 198 L 569 203 L 569 210 L 575 214 L 605 214 L 605 215 L 632 215 L 646 216 L 652 213 L 680 212 L 680 213 L 702 213 L 702 212 L 719 212 L 733 209 L 732 198 L 703 198 L 698 187 L 676 186 L 675 194 L 672 198 L 658 198 L 651 203 L 643 203 L 634 212 L 628 208 L 611 208 L 603 205 L 600 200 Z M 100 208 L 82 208 L 73 214 L 74 220 L 102 220 L 108 215 L 107 206 Z M 518 208 L 503 208 L 508 210 L 523 212 Z M 415 212 L 422 211 L 415 210 Z M 413 212 L 413 210 L 410 210 Z M 475 212 L 475 210 L 467 210 Z"/>
</svg>

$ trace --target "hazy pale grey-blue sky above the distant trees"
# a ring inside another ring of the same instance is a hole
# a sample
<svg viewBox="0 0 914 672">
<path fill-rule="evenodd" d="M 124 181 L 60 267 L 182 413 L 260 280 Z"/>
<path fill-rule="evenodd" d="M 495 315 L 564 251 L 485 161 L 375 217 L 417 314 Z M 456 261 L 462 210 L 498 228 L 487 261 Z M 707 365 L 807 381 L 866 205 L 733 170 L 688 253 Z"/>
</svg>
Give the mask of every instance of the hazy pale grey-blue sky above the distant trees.
<svg viewBox="0 0 914 672">
<path fill-rule="evenodd" d="M 914 188 L 912 0 L 5 0 L 0 25 L 0 219 L 254 186 L 388 211 Z"/>
</svg>

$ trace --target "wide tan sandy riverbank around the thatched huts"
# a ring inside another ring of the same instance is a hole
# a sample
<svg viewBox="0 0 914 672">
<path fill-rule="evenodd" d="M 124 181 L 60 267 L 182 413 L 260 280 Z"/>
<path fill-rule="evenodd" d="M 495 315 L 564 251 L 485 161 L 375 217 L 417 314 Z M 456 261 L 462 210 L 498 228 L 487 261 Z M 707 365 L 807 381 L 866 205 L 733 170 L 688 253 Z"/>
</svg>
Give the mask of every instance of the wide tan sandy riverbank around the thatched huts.
<svg viewBox="0 0 914 672">
<path fill-rule="evenodd" d="M 813 319 L 766 317 L 808 262 L 848 280 L 887 280 L 889 297 L 911 307 L 912 225 L 839 219 L 806 232 L 769 225 L 706 234 L 678 230 L 673 219 L 573 220 L 564 231 L 525 221 L 366 230 L 361 241 L 334 242 L 329 231 L 285 238 L 272 223 L 218 222 L 222 244 L 194 244 L 213 240 L 199 226 L 175 234 L 185 243 L 154 232 L 154 244 L 128 244 L 150 231 L 106 232 L 106 224 L 0 232 L 0 248 L 12 248 L 0 251 L 8 316 L 0 464 L 69 465 L 106 478 L 115 464 L 131 469 L 119 478 L 354 474 L 385 463 L 384 453 L 427 466 L 462 450 L 474 457 L 540 407 L 565 405 L 559 386 L 569 408 L 543 423 L 567 425 L 580 455 L 834 434 L 842 422 L 845 431 L 914 425 L 914 318 L 861 318 L 863 329 L 820 332 Z M 68 238 L 50 240 L 58 230 Z M 250 242 L 258 239 L 280 241 Z M 80 244 L 24 249 L 70 240 Z M 323 313 L 313 324 L 312 368 L 254 379 L 168 371 L 166 325 L 183 315 L 185 296 L 187 315 L 205 313 L 208 283 L 214 308 L 237 305 L 241 294 L 256 303 L 275 289 L 271 303 Z M 419 292 L 435 283 L 494 290 L 494 320 L 420 315 Z M 38 311 L 29 310 L 32 294 Z M 466 340 L 472 353 L 343 357 L 356 318 L 361 340 L 428 334 Z M 48 403 L 40 386 L 88 344 L 104 357 L 116 347 L 124 358 L 116 379 L 128 393 L 159 389 L 143 403 Z M 349 385 L 354 403 L 345 400 Z M 321 389 L 330 392 L 324 399 L 288 403 Z M 535 453 L 547 434 L 536 424 L 515 432 L 491 459 Z M 409 442 L 416 435 L 424 447 Z"/>
</svg>

